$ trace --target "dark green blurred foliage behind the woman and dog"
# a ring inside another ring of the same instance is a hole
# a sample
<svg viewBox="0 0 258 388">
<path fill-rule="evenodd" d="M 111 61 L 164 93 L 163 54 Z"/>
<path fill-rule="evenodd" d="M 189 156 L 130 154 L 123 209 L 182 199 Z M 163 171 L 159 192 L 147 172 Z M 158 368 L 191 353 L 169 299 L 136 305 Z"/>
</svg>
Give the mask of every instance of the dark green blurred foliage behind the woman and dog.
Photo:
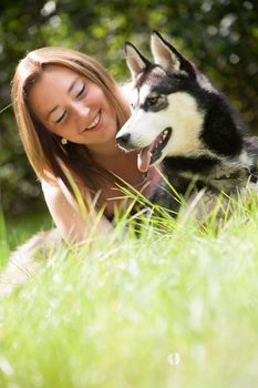
<svg viewBox="0 0 258 388">
<path fill-rule="evenodd" d="M 0 110 L 10 103 L 14 68 L 27 51 L 65 45 L 99 59 L 120 81 L 128 78 L 123 44 L 147 55 L 149 32 L 171 37 L 205 71 L 257 131 L 258 25 L 255 0 L 2 1 L 0 13 Z M 0 114 L 0 181 L 10 213 L 42 203 L 21 149 L 11 109 Z"/>
</svg>

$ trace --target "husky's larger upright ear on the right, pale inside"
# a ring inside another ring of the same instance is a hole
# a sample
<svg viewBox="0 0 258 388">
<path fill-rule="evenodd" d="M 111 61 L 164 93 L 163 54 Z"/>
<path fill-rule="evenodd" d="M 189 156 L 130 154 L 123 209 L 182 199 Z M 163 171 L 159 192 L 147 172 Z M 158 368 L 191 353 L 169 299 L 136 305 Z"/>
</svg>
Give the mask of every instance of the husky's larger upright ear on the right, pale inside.
<svg viewBox="0 0 258 388">
<path fill-rule="evenodd" d="M 169 44 L 157 31 L 151 37 L 151 50 L 154 62 L 166 71 L 184 71 L 195 76 L 193 64 L 184 58 L 172 44 Z"/>
</svg>

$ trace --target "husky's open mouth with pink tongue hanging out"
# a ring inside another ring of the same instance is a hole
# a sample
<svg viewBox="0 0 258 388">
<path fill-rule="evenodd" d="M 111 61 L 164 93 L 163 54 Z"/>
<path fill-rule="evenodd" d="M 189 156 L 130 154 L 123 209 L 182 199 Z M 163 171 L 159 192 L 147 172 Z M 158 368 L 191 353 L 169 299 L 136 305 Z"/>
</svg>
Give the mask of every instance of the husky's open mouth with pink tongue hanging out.
<svg viewBox="0 0 258 388">
<path fill-rule="evenodd" d="M 137 166 L 142 172 L 146 172 L 161 156 L 162 151 L 167 145 L 172 135 L 172 127 L 166 127 L 148 146 L 141 150 L 137 157 Z"/>
</svg>

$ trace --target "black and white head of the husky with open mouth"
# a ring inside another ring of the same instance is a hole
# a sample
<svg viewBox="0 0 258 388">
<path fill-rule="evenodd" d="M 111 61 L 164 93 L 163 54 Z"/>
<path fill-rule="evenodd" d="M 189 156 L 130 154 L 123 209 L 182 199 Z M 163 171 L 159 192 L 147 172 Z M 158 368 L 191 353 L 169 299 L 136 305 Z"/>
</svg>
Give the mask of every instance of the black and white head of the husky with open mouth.
<svg viewBox="0 0 258 388">
<path fill-rule="evenodd" d="M 204 112 L 195 94 L 214 91 L 208 80 L 158 32 L 153 32 L 148 61 L 132 43 L 125 43 L 133 78 L 132 116 L 116 141 L 127 151 L 140 150 L 138 169 L 166 155 L 196 155 L 202 150 Z"/>
</svg>

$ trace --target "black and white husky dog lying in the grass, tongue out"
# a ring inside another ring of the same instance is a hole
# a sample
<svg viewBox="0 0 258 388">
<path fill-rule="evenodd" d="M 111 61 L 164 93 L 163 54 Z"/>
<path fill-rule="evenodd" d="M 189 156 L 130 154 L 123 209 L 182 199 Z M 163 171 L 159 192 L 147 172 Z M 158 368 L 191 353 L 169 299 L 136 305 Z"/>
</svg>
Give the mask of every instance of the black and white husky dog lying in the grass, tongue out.
<svg viewBox="0 0 258 388">
<path fill-rule="evenodd" d="M 138 150 L 138 170 L 163 161 L 163 172 L 177 192 L 231 194 L 258 180 L 258 137 L 248 136 L 236 113 L 196 67 L 157 31 L 151 37 L 154 62 L 130 42 L 132 116 L 116 141 Z M 165 185 L 163 183 L 162 185 Z M 151 198 L 175 210 L 175 200 L 157 191 Z"/>
</svg>

